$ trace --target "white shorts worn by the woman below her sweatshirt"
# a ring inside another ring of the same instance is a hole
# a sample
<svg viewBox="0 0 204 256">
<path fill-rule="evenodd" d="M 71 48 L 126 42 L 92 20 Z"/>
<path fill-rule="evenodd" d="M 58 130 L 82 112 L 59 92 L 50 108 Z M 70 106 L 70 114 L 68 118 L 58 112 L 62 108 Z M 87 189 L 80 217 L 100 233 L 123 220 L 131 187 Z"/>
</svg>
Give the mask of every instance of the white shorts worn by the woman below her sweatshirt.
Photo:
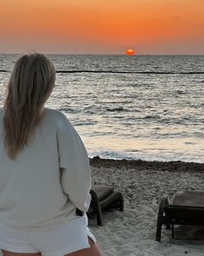
<svg viewBox="0 0 204 256">
<path fill-rule="evenodd" d="M 87 227 L 86 215 L 49 231 L 19 230 L 0 222 L 0 248 L 13 253 L 63 256 L 89 248 L 88 237 L 96 242 Z"/>
</svg>

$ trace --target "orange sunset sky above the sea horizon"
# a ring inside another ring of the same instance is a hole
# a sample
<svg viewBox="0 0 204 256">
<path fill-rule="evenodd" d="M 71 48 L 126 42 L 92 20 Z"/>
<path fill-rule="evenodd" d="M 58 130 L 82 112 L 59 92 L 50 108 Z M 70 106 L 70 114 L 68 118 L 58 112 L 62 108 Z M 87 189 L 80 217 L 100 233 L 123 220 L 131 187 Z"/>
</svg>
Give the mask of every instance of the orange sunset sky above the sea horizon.
<svg viewBox="0 0 204 256">
<path fill-rule="evenodd" d="M 204 0 L 0 0 L 0 52 L 204 54 Z"/>
</svg>

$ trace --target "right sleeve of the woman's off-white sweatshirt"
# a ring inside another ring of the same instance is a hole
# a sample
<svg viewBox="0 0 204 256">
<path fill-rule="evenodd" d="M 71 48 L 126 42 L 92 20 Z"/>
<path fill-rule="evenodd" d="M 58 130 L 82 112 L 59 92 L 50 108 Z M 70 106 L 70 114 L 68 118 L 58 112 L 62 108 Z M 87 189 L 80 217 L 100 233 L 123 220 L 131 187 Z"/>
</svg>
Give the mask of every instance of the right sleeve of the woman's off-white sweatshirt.
<svg viewBox="0 0 204 256">
<path fill-rule="evenodd" d="M 86 212 L 91 201 L 89 159 L 80 135 L 65 116 L 58 128 L 57 141 L 62 190 L 75 207 Z"/>
</svg>

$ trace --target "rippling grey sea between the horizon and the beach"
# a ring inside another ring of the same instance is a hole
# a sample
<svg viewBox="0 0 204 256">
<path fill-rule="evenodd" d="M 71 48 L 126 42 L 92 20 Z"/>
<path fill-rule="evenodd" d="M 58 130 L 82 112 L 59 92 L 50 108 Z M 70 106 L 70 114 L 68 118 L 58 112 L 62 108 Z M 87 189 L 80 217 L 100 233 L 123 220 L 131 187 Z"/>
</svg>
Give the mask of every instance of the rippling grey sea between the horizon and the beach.
<svg viewBox="0 0 204 256">
<path fill-rule="evenodd" d="M 204 56 L 48 55 L 90 157 L 204 162 Z M 0 107 L 17 55 L 0 55 Z"/>
</svg>

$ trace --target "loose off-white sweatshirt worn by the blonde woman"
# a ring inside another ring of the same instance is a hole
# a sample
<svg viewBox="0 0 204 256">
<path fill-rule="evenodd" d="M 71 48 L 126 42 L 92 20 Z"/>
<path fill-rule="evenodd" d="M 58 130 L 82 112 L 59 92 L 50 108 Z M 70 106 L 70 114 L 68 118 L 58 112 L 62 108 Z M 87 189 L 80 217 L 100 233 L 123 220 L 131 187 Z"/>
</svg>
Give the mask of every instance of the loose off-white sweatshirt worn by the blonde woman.
<svg viewBox="0 0 204 256">
<path fill-rule="evenodd" d="M 0 221 L 24 230 L 48 230 L 80 218 L 90 205 L 86 148 L 61 112 L 45 108 L 41 124 L 15 161 L 3 143 L 0 109 Z"/>
</svg>

